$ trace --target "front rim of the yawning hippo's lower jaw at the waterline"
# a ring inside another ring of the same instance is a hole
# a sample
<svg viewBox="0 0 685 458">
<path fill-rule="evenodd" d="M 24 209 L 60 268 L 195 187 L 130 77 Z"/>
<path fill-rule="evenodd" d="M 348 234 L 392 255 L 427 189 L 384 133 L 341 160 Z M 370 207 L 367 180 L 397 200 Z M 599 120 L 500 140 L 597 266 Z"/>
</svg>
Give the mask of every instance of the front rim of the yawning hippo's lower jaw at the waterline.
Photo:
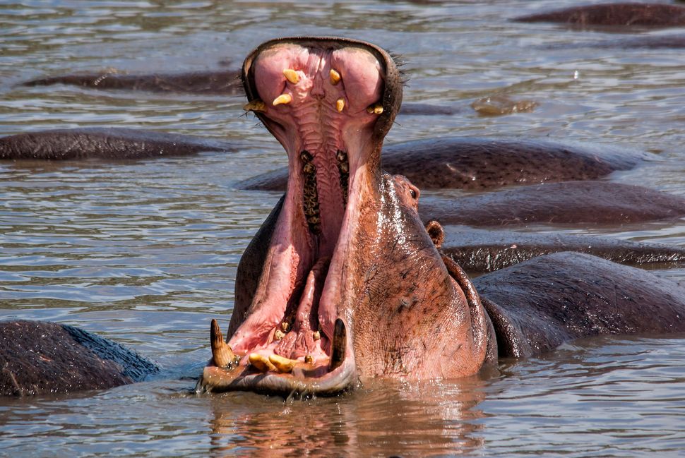
<svg viewBox="0 0 685 458">
<path fill-rule="evenodd" d="M 297 374 L 246 373 L 245 367 L 232 370 L 206 366 L 196 386 L 196 392 L 253 391 L 266 394 L 316 394 L 332 396 L 352 390 L 359 381 L 351 356 L 342 364 L 320 377 Z"/>
</svg>

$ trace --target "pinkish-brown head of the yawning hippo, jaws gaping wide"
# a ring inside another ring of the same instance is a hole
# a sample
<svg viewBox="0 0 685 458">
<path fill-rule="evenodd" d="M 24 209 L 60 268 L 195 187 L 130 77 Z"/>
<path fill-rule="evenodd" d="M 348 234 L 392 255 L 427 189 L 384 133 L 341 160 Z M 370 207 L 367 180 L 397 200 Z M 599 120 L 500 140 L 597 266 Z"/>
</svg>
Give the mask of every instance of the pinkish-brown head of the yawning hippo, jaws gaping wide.
<svg viewBox="0 0 685 458">
<path fill-rule="evenodd" d="M 476 373 L 488 318 L 417 215 L 418 190 L 380 169 L 402 100 L 395 62 L 366 42 L 271 40 L 245 60 L 249 103 L 288 155 L 287 192 L 251 301 L 198 389 L 330 394 L 374 377 Z"/>
</svg>

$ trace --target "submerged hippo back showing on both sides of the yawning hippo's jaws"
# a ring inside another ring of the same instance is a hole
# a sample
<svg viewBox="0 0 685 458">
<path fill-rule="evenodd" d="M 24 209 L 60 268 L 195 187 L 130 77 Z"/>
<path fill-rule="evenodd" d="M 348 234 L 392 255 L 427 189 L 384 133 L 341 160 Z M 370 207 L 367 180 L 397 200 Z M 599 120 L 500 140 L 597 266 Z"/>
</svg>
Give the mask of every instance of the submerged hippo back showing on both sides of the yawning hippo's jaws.
<svg viewBox="0 0 685 458">
<path fill-rule="evenodd" d="M 439 138 L 383 148 L 381 167 L 421 189 L 489 189 L 545 181 L 589 180 L 628 170 L 653 155 L 610 145 L 548 140 Z M 287 169 L 237 183 L 248 190 L 285 190 Z"/>
</svg>

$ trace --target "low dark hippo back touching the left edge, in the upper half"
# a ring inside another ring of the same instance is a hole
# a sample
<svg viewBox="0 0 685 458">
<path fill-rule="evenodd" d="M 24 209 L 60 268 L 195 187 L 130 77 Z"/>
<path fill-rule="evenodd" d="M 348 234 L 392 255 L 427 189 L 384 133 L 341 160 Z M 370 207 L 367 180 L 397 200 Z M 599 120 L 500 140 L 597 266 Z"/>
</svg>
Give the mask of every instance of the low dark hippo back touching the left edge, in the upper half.
<svg viewBox="0 0 685 458">
<path fill-rule="evenodd" d="M 0 138 L 0 159 L 142 159 L 229 150 L 219 141 L 126 128 L 56 129 Z"/>
</svg>

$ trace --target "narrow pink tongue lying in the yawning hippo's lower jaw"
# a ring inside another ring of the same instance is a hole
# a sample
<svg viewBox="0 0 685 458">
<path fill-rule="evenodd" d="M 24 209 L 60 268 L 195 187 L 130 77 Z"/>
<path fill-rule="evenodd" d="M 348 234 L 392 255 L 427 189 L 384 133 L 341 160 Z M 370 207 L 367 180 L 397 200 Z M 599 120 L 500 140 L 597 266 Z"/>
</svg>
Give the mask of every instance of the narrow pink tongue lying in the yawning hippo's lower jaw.
<svg viewBox="0 0 685 458">
<path fill-rule="evenodd" d="M 292 330 L 275 346 L 275 354 L 297 359 L 314 352 L 314 331 L 318 331 L 318 301 L 321 299 L 329 263 L 330 258 L 319 259 L 307 275 Z"/>
</svg>

